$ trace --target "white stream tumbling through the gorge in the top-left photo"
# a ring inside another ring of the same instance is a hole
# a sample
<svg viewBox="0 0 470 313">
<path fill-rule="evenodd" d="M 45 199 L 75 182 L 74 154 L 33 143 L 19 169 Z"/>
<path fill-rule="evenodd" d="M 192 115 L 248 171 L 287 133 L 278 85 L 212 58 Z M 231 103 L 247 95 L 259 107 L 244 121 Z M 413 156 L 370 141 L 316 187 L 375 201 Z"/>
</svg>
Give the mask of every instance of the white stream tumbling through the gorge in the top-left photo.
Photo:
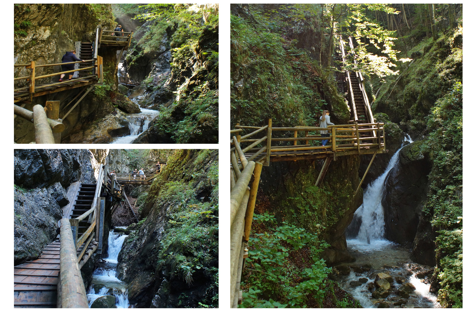
<svg viewBox="0 0 470 313">
<path fill-rule="evenodd" d="M 118 79 L 119 83 L 123 83 L 123 76 L 125 73 L 125 67 L 123 66 L 124 56 L 121 58 L 122 61 L 118 65 Z M 125 83 L 125 82 L 124 82 Z M 140 99 L 145 97 L 144 95 L 136 96 L 135 98 L 130 98 L 133 102 L 139 103 Z M 149 128 L 149 123 L 153 120 L 158 114 L 159 111 L 151 110 L 148 108 L 143 108 L 139 106 L 141 113 L 132 113 L 127 114 L 127 120 L 129 122 L 129 135 L 121 137 L 112 137 L 111 144 L 132 144 L 133 140 L 137 138 L 142 132 Z"/>
</svg>

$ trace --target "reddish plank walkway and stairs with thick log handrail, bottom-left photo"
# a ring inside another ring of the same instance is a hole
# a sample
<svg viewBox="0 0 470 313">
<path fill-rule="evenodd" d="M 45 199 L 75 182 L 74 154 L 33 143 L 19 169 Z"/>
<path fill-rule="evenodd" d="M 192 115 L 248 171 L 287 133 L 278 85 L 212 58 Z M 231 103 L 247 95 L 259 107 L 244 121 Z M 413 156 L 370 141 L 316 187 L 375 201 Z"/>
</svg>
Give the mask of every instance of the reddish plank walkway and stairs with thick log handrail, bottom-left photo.
<svg viewBox="0 0 470 313">
<path fill-rule="evenodd" d="M 106 176 L 107 166 L 100 165 L 97 184 L 71 184 L 60 235 L 39 259 L 14 267 L 15 307 L 88 307 L 80 268 L 102 252 L 104 219 L 120 201 L 120 186 Z"/>
</svg>

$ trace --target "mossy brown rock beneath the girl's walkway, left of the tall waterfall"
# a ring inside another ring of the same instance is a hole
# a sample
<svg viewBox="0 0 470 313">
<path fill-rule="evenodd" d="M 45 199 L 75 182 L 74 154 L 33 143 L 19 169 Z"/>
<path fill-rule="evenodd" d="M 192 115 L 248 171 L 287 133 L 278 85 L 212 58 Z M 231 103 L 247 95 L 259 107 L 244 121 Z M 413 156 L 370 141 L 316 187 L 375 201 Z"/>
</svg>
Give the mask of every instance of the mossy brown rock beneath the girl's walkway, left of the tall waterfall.
<svg viewBox="0 0 470 313">
<path fill-rule="evenodd" d="M 273 162 L 261 171 L 259 189 L 269 195 L 271 213 L 278 220 L 316 233 L 331 245 L 322 254 L 329 266 L 351 262 L 354 258 L 346 251 L 344 233 L 362 200 L 361 190 L 353 196 L 360 182 L 359 158 L 345 156 L 331 161 L 318 188 L 314 184 L 321 165 L 321 160 Z"/>
</svg>

